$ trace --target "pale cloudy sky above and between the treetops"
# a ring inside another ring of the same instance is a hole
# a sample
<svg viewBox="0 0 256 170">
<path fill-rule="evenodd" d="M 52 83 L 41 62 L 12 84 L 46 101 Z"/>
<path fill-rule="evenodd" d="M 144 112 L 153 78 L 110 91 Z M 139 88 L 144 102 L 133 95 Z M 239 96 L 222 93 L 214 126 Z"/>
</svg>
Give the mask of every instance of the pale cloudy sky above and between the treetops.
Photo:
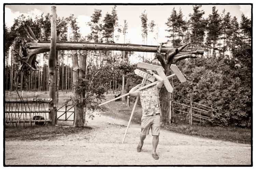
<svg viewBox="0 0 256 170">
<path fill-rule="evenodd" d="M 77 18 L 78 26 L 80 27 L 80 33 L 82 36 L 88 35 L 90 32 L 89 26 L 86 25 L 90 21 L 90 17 L 95 9 L 102 10 L 103 20 L 107 12 L 111 13 L 114 5 L 56 5 L 58 17 L 68 17 L 70 14 L 74 14 Z M 206 18 L 212 12 L 213 5 L 202 5 L 201 10 L 204 10 L 204 18 Z M 241 14 L 251 18 L 251 5 L 215 5 L 219 13 L 225 9 L 230 12 L 231 16 L 236 16 L 238 22 L 240 22 Z M 117 5 L 118 25 L 122 26 L 124 20 L 128 22 L 128 33 L 126 35 L 125 42 L 132 44 L 144 44 L 141 36 L 141 13 L 146 10 L 148 22 L 155 21 L 156 27 L 153 33 L 148 33 L 147 45 L 158 45 L 161 42 L 166 42 L 167 29 L 165 23 L 171 14 L 171 11 L 175 7 L 178 12 L 179 9 L 183 12 L 183 18 L 188 20 L 189 14 L 193 13 L 193 5 Z M 36 15 L 42 13 L 51 13 L 51 5 L 5 5 L 5 23 L 7 27 L 11 27 L 14 18 L 24 14 L 25 16 L 31 16 L 34 18 Z M 156 33 L 158 32 L 158 39 Z M 115 31 L 115 35 L 119 33 Z M 119 34 L 119 40 L 115 40 L 116 43 L 124 43 L 123 34 Z M 155 37 L 155 38 L 154 38 Z M 146 44 L 146 42 L 145 42 Z M 136 53 L 141 54 L 140 52 Z M 151 54 L 147 54 L 151 55 Z"/>
</svg>

